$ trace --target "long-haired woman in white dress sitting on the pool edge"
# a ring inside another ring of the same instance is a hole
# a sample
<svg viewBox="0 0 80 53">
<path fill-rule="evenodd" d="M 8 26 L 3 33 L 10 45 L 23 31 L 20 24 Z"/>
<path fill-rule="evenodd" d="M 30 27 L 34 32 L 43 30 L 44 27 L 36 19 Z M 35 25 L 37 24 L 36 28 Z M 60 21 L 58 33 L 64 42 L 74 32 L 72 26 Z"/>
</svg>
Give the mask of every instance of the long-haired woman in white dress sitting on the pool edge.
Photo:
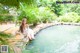
<svg viewBox="0 0 80 53">
<path fill-rule="evenodd" d="M 29 25 L 27 24 L 27 20 L 25 18 L 22 20 L 20 32 L 25 35 L 25 38 L 28 38 L 29 40 L 34 39 L 34 32 L 29 28 Z"/>
</svg>

